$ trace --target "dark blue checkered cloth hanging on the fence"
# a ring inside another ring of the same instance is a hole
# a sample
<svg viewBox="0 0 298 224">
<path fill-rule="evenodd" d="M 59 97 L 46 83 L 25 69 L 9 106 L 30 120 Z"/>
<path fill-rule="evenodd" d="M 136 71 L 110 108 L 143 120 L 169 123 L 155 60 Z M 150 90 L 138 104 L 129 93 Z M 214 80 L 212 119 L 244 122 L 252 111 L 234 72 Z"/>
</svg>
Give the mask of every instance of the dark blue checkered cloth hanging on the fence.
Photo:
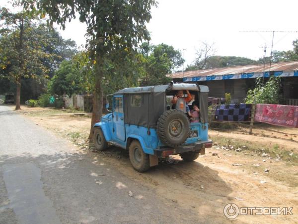
<svg viewBox="0 0 298 224">
<path fill-rule="evenodd" d="M 230 104 L 217 106 L 217 121 L 249 121 L 251 104 Z"/>
</svg>

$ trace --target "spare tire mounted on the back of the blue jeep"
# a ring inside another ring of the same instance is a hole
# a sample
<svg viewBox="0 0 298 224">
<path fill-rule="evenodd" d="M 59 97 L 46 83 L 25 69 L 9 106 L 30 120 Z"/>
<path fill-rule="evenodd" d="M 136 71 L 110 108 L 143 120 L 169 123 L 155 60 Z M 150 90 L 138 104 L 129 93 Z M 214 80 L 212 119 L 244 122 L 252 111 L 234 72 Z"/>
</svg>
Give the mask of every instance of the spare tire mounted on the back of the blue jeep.
<svg viewBox="0 0 298 224">
<path fill-rule="evenodd" d="M 166 111 L 158 119 L 157 134 L 165 145 L 176 147 L 183 144 L 188 137 L 188 132 L 188 119 L 181 111 Z"/>
</svg>

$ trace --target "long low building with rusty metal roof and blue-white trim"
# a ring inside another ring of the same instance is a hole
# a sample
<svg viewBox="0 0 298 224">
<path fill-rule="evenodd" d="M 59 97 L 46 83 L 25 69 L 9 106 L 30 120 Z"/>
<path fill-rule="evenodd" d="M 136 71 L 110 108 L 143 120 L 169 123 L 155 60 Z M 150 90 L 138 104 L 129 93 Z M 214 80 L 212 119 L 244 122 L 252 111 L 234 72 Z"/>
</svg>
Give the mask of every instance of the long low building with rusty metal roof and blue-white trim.
<svg viewBox="0 0 298 224">
<path fill-rule="evenodd" d="M 298 61 L 177 72 L 168 76 L 175 82 L 206 85 L 210 97 L 224 98 L 225 93 L 230 93 L 234 103 L 243 102 L 256 78 L 264 77 L 266 81 L 269 76 L 279 76 L 284 104 L 298 105 Z"/>
</svg>

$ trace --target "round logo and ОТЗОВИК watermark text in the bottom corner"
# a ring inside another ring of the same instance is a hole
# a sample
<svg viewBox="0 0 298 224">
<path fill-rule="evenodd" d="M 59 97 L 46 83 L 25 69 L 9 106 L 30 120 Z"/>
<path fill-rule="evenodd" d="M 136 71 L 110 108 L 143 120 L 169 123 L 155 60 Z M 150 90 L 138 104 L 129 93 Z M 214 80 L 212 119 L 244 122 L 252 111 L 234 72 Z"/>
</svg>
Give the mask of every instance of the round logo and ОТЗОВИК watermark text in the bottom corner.
<svg viewBox="0 0 298 224">
<path fill-rule="evenodd" d="M 293 207 L 280 208 L 280 207 L 241 207 L 239 208 L 236 204 L 229 203 L 224 206 L 224 216 L 228 219 L 235 219 L 239 215 L 293 215 Z"/>
</svg>

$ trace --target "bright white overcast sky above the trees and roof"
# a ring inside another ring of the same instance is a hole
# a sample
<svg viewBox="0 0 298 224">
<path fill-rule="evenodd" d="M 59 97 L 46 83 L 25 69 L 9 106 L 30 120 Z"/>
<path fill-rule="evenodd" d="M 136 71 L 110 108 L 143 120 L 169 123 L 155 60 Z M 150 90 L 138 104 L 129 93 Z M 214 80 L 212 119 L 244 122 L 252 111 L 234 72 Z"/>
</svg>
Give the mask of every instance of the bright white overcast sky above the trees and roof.
<svg viewBox="0 0 298 224">
<path fill-rule="evenodd" d="M 159 0 L 147 27 L 151 44 L 165 43 L 183 53 L 184 67 L 195 60 L 202 42 L 214 44 L 216 55 L 257 60 L 265 43 L 270 54 L 272 32 L 243 31 L 298 31 L 297 8 L 297 0 Z M 56 27 L 78 46 L 85 43 L 86 26 L 78 20 L 65 30 Z M 275 32 L 273 50 L 292 50 L 297 38 L 298 32 Z"/>
</svg>

